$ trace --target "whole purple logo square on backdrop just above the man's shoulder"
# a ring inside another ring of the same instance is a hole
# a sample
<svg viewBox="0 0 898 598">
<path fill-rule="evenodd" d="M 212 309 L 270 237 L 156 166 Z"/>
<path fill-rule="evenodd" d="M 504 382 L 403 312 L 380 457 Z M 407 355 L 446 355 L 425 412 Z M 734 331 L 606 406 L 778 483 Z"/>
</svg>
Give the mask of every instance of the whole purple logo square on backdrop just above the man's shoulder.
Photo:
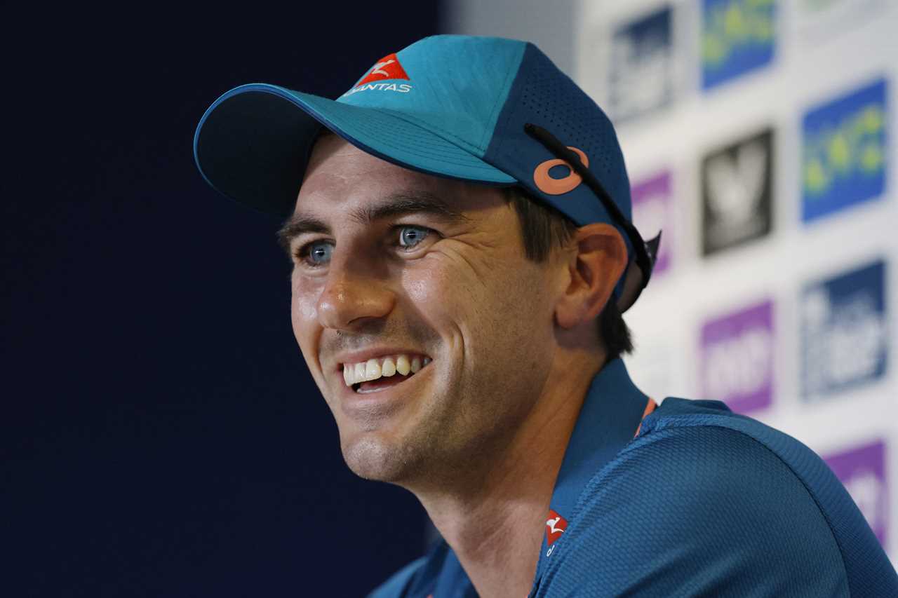
<svg viewBox="0 0 898 598">
<path fill-rule="evenodd" d="M 736 413 L 770 405 L 773 396 L 773 303 L 764 301 L 701 328 L 703 399 Z"/>
</svg>

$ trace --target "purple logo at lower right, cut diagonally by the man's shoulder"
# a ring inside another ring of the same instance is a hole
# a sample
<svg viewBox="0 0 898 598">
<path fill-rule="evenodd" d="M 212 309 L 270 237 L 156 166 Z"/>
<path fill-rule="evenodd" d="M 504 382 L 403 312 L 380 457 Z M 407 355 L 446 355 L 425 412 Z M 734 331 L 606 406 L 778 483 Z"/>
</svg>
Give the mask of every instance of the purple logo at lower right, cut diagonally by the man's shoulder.
<svg viewBox="0 0 898 598">
<path fill-rule="evenodd" d="M 885 547 L 889 500 L 883 441 L 833 454 L 824 457 L 823 461 L 844 484 L 879 543 Z"/>
</svg>

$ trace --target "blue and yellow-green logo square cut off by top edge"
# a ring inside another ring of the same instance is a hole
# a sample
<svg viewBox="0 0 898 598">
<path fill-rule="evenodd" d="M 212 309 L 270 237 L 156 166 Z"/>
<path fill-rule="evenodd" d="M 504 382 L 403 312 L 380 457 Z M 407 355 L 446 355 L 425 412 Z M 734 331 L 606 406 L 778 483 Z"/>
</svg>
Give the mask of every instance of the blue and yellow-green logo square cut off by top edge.
<svg viewBox="0 0 898 598">
<path fill-rule="evenodd" d="M 770 64 L 776 4 L 775 0 L 702 0 L 702 89 Z"/>
</svg>

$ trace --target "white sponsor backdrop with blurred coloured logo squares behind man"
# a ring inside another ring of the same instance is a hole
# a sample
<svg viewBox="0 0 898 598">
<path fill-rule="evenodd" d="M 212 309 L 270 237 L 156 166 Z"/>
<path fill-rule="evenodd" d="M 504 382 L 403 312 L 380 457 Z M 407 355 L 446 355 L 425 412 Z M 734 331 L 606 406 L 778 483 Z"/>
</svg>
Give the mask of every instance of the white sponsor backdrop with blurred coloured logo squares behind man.
<svg viewBox="0 0 898 598">
<path fill-rule="evenodd" d="M 898 3 L 579 12 L 574 76 L 618 127 L 638 228 L 664 231 L 631 374 L 810 446 L 898 562 Z"/>
</svg>

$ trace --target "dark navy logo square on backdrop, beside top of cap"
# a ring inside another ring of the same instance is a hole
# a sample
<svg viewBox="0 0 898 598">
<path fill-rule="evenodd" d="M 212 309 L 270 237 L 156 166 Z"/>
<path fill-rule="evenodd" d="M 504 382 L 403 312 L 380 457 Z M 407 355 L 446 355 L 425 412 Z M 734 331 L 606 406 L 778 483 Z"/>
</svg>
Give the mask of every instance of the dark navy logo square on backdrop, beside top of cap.
<svg viewBox="0 0 898 598">
<path fill-rule="evenodd" d="M 672 13 L 665 6 L 614 31 L 608 110 L 615 122 L 662 108 L 673 98 Z"/>
</svg>

